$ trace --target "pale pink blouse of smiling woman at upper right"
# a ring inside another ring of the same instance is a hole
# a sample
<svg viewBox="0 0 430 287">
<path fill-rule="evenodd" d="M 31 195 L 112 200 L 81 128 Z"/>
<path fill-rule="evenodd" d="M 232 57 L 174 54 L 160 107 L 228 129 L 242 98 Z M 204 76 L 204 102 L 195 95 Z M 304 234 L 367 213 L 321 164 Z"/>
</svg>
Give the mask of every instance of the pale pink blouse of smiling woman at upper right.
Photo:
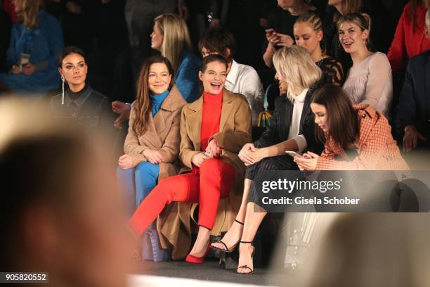
<svg viewBox="0 0 430 287">
<path fill-rule="evenodd" d="M 384 53 L 376 52 L 353 66 L 344 84 L 353 103 L 368 103 L 389 117 L 393 98 L 391 65 Z"/>
</svg>

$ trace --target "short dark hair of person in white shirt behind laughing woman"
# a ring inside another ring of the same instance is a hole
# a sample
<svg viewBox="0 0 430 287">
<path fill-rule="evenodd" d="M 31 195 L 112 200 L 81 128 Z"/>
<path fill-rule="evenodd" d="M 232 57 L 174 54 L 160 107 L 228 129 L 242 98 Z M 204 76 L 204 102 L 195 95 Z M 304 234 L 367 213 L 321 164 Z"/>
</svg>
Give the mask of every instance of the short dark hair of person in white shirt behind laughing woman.
<svg viewBox="0 0 430 287">
<path fill-rule="evenodd" d="M 226 57 L 227 49 L 230 49 L 230 56 L 227 60 L 231 60 L 236 51 L 236 40 L 230 31 L 223 27 L 210 27 L 202 39 L 199 41 L 199 50 L 206 48 L 209 52 L 216 52 Z"/>
</svg>

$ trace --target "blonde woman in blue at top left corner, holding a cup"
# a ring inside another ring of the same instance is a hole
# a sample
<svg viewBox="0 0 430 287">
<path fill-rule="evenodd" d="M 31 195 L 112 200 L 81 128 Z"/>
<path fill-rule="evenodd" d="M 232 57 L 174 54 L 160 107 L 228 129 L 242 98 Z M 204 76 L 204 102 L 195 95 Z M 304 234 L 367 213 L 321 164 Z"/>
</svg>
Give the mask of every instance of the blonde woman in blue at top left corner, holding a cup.
<svg viewBox="0 0 430 287">
<path fill-rule="evenodd" d="M 37 0 L 15 0 L 15 11 L 18 22 L 6 56 L 10 70 L 0 74 L 0 91 L 44 94 L 58 88 L 57 56 L 64 46 L 60 23 L 39 10 Z"/>
</svg>

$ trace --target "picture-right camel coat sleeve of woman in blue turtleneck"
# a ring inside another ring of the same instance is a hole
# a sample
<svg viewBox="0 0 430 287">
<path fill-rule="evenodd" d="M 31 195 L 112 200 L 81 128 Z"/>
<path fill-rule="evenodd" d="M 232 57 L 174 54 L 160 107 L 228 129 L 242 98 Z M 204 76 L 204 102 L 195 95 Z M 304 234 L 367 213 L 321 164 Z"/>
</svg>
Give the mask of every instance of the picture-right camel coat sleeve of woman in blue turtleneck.
<svg viewBox="0 0 430 287">
<path fill-rule="evenodd" d="M 162 155 L 162 162 L 174 162 L 178 158 L 179 144 L 181 142 L 181 108 L 174 111 L 174 120 L 171 123 L 169 134 L 164 141 L 159 153 Z"/>
</svg>

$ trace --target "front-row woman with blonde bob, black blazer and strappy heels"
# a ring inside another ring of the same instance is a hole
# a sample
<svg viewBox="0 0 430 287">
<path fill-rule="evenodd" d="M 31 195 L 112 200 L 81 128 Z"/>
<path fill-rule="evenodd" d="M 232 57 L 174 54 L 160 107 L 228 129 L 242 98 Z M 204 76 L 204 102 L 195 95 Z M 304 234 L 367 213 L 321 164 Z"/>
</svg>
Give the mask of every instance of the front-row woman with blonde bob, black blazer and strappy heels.
<svg viewBox="0 0 430 287">
<path fill-rule="evenodd" d="M 241 243 L 238 273 L 248 274 L 254 270 L 254 247 L 250 243 L 267 214 L 263 208 L 259 208 L 261 212 L 254 212 L 261 205 L 263 194 L 256 189 L 254 178 L 268 170 L 297 170 L 293 158 L 285 155 L 285 151 L 318 153 L 323 148 L 315 141 L 314 117 L 309 107 L 313 91 L 324 82 L 323 72 L 301 46 L 276 51 L 273 64 L 280 89 L 285 89 L 287 96 L 276 98 L 275 113 L 261 138 L 254 144 L 245 144 L 240 151 L 239 158 L 247 165 L 242 204 L 227 234 L 211 245 L 214 249 L 231 252 L 237 243 Z"/>
</svg>

